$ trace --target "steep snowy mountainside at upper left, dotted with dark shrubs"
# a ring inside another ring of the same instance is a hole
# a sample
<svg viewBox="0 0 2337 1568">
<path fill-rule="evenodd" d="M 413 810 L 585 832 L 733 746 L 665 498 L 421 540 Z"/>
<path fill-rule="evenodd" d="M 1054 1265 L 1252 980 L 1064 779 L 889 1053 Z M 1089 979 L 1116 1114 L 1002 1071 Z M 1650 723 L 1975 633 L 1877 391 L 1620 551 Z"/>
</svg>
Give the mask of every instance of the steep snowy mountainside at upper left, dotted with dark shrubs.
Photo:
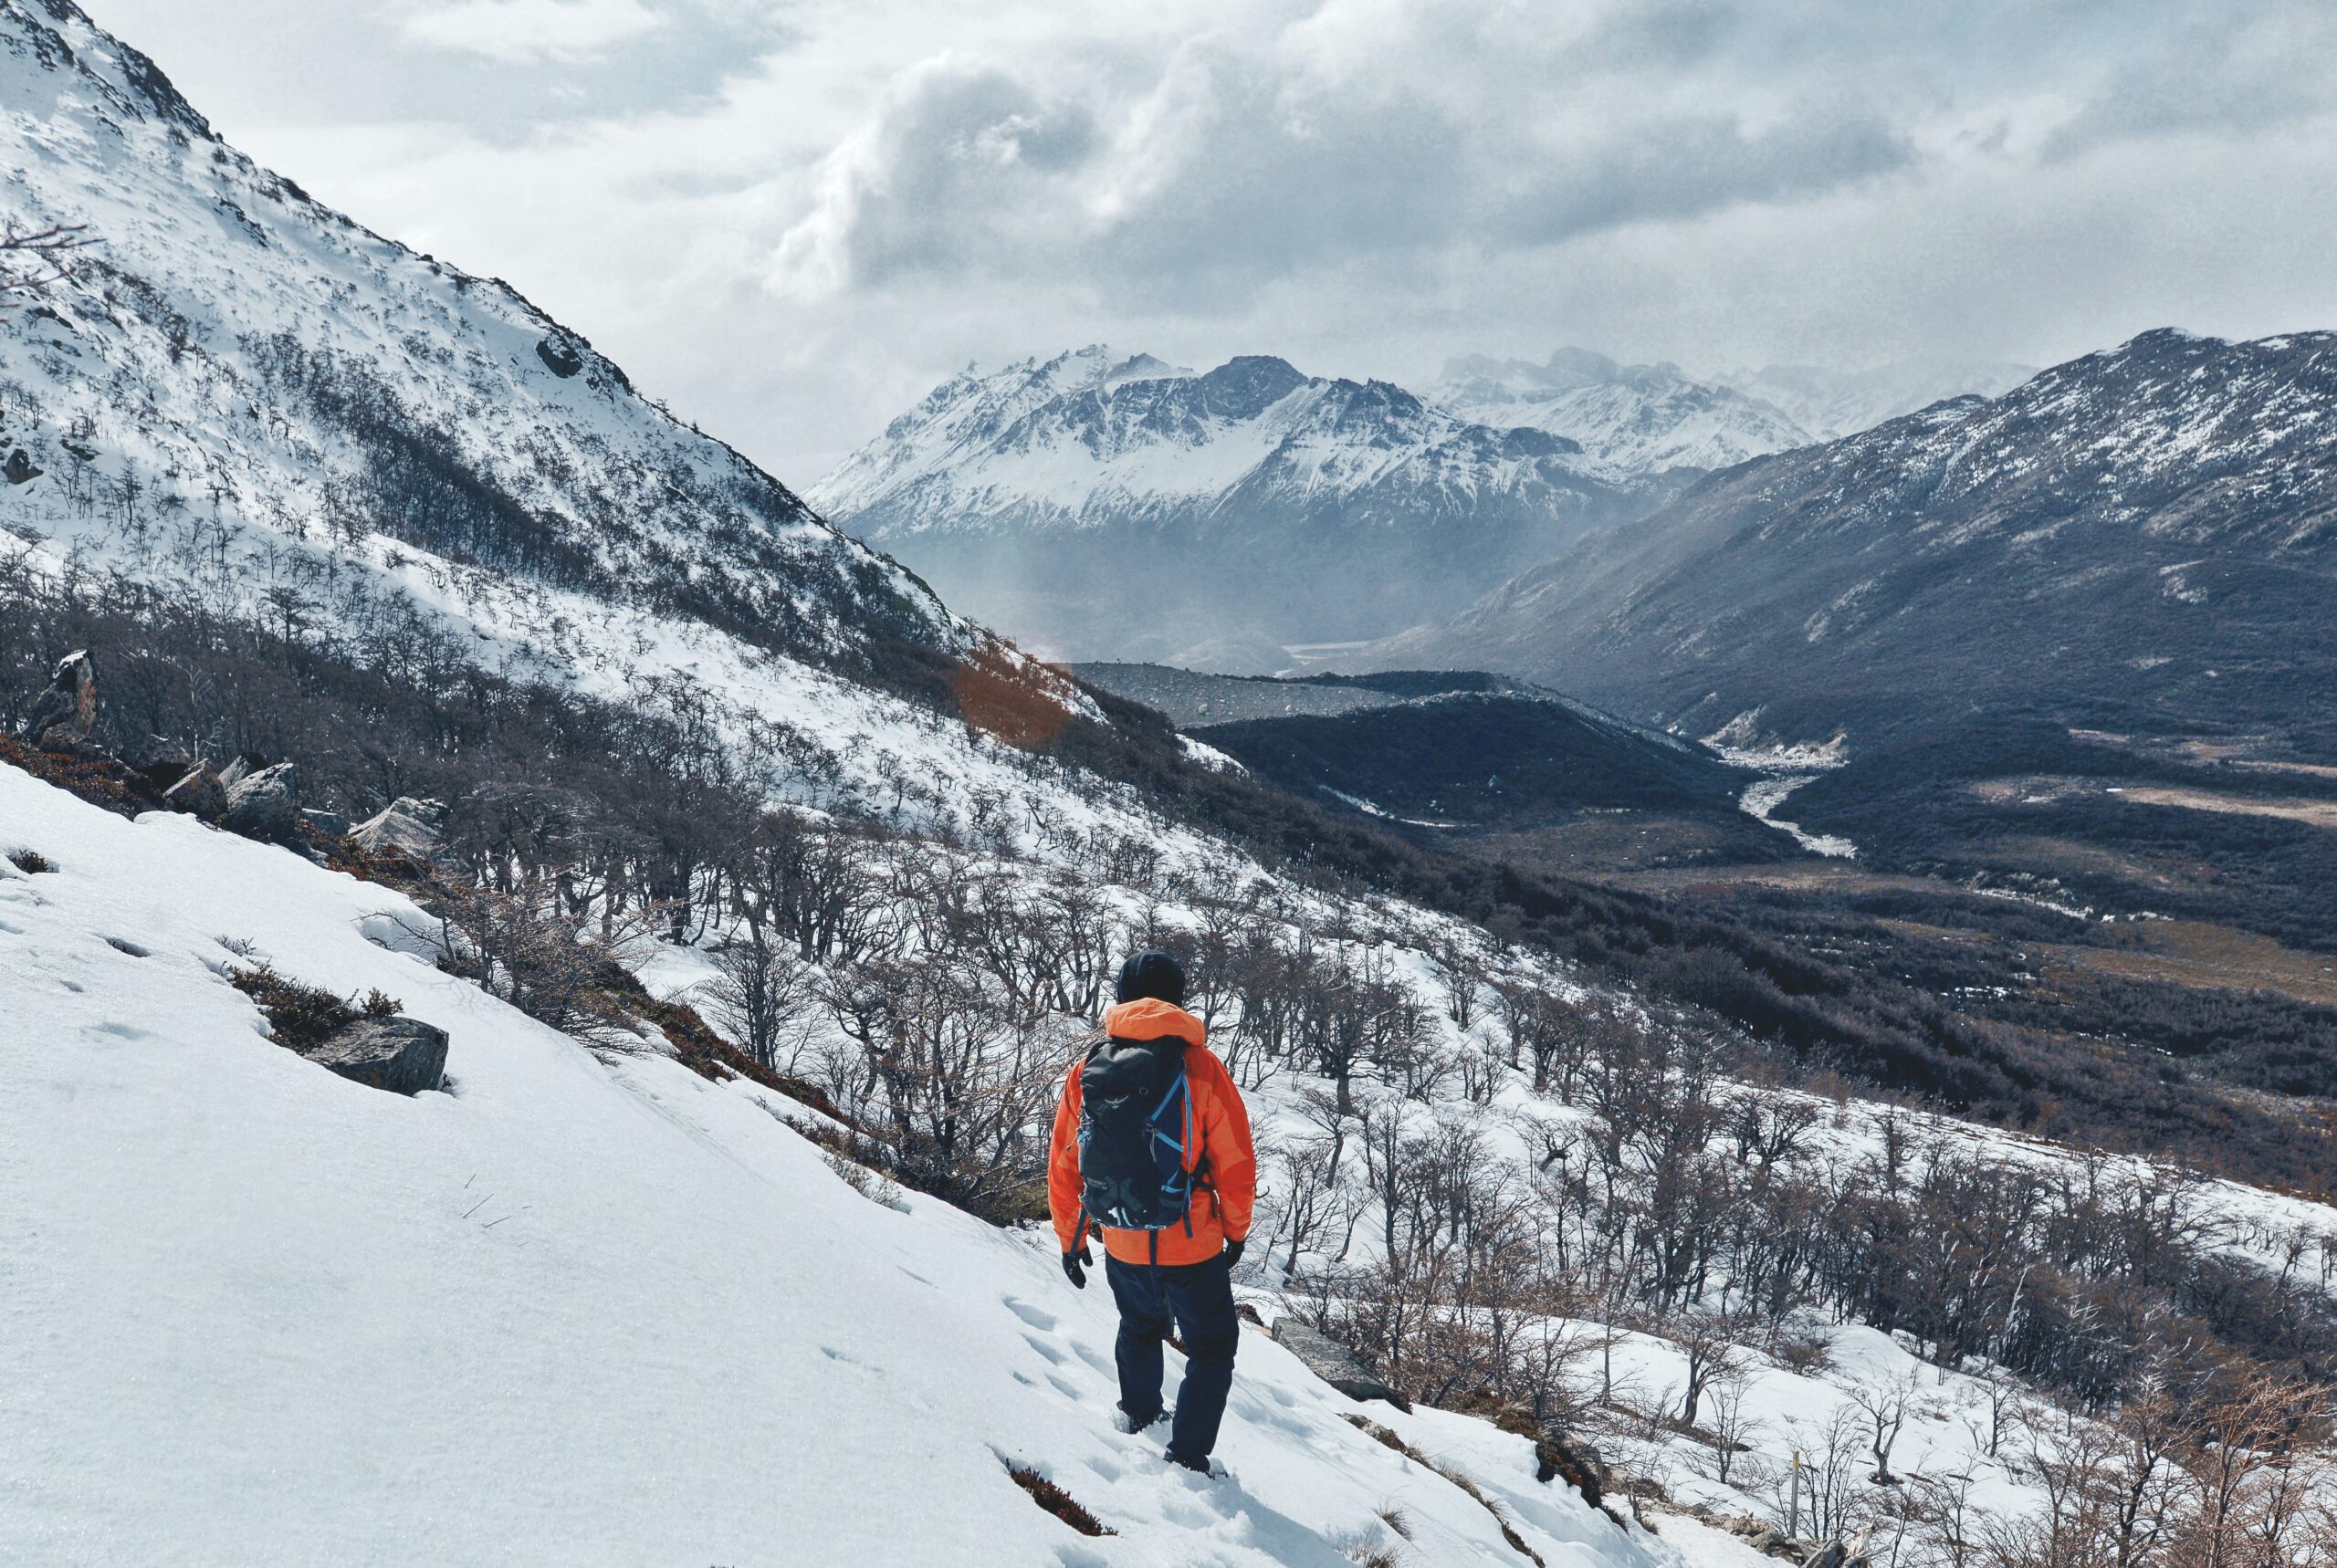
<svg viewBox="0 0 2337 1568">
<path fill-rule="evenodd" d="M 7 439 L 47 470 L 19 526 L 271 577 L 395 542 L 818 654 L 968 636 L 505 283 L 220 143 L 70 0 L 0 0 L 0 168 L 16 224 L 98 241 L 0 315 Z"/>
</svg>

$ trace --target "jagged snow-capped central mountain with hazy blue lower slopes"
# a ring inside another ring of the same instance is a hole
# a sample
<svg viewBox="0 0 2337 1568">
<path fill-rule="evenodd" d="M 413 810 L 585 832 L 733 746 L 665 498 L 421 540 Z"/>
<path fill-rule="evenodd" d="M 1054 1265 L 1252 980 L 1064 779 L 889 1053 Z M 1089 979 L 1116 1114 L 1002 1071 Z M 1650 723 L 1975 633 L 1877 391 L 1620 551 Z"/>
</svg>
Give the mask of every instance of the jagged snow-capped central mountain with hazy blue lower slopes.
<svg viewBox="0 0 2337 1568">
<path fill-rule="evenodd" d="M 809 500 L 1019 640 L 1171 661 L 1451 615 L 1643 509 L 1577 442 L 1386 381 L 1103 346 L 953 376 Z"/>
</svg>

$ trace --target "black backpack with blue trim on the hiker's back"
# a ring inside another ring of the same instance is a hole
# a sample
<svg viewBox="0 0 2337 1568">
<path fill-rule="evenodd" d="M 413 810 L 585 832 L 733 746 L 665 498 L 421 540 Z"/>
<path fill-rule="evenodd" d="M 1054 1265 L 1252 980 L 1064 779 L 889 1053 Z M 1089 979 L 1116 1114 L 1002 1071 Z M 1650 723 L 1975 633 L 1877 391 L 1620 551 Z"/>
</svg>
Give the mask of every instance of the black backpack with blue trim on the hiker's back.
<svg viewBox="0 0 2337 1568">
<path fill-rule="evenodd" d="M 1183 1040 L 1098 1040 L 1080 1068 L 1080 1199 L 1122 1231 L 1192 1231 Z M 1199 1164 L 1194 1159 L 1192 1164 Z"/>
</svg>

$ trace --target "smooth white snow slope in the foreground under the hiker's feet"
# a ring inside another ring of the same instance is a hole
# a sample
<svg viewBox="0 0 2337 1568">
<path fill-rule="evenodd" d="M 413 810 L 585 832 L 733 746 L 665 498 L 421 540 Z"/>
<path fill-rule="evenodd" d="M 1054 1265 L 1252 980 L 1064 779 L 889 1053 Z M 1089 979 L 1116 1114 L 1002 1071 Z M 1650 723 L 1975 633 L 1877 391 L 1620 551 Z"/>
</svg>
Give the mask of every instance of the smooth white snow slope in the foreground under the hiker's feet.
<svg viewBox="0 0 2337 1568">
<path fill-rule="evenodd" d="M 603 1063 L 381 946 L 397 893 L 7 766 L 0 848 L 58 867 L 0 860 L 0 1559 L 1334 1568 L 1395 1500 L 1423 1561 L 1524 1561 L 1262 1334 L 1234 1479 L 1166 1468 L 1110 1428 L 1103 1290 L 872 1203 L 769 1091 Z M 446 1028 L 449 1089 L 278 1049 L 222 939 Z M 1678 1561 L 1524 1439 L 1372 1411 L 1552 1566 Z"/>
</svg>

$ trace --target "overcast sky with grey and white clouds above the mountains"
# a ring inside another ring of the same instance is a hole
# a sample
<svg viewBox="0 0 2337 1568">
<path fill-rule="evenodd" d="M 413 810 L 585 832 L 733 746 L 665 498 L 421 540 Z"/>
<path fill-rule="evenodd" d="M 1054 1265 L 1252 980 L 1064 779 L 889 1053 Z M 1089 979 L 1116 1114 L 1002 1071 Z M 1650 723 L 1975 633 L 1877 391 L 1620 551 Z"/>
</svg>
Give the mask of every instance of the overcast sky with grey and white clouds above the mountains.
<svg viewBox="0 0 2337 1568">
<path fill-rule="evenodd" d="M 804 486 L 970 360 L 1419 386 L 2337 327 L 2337 7 L 84 0 Z"/>
</svg>

